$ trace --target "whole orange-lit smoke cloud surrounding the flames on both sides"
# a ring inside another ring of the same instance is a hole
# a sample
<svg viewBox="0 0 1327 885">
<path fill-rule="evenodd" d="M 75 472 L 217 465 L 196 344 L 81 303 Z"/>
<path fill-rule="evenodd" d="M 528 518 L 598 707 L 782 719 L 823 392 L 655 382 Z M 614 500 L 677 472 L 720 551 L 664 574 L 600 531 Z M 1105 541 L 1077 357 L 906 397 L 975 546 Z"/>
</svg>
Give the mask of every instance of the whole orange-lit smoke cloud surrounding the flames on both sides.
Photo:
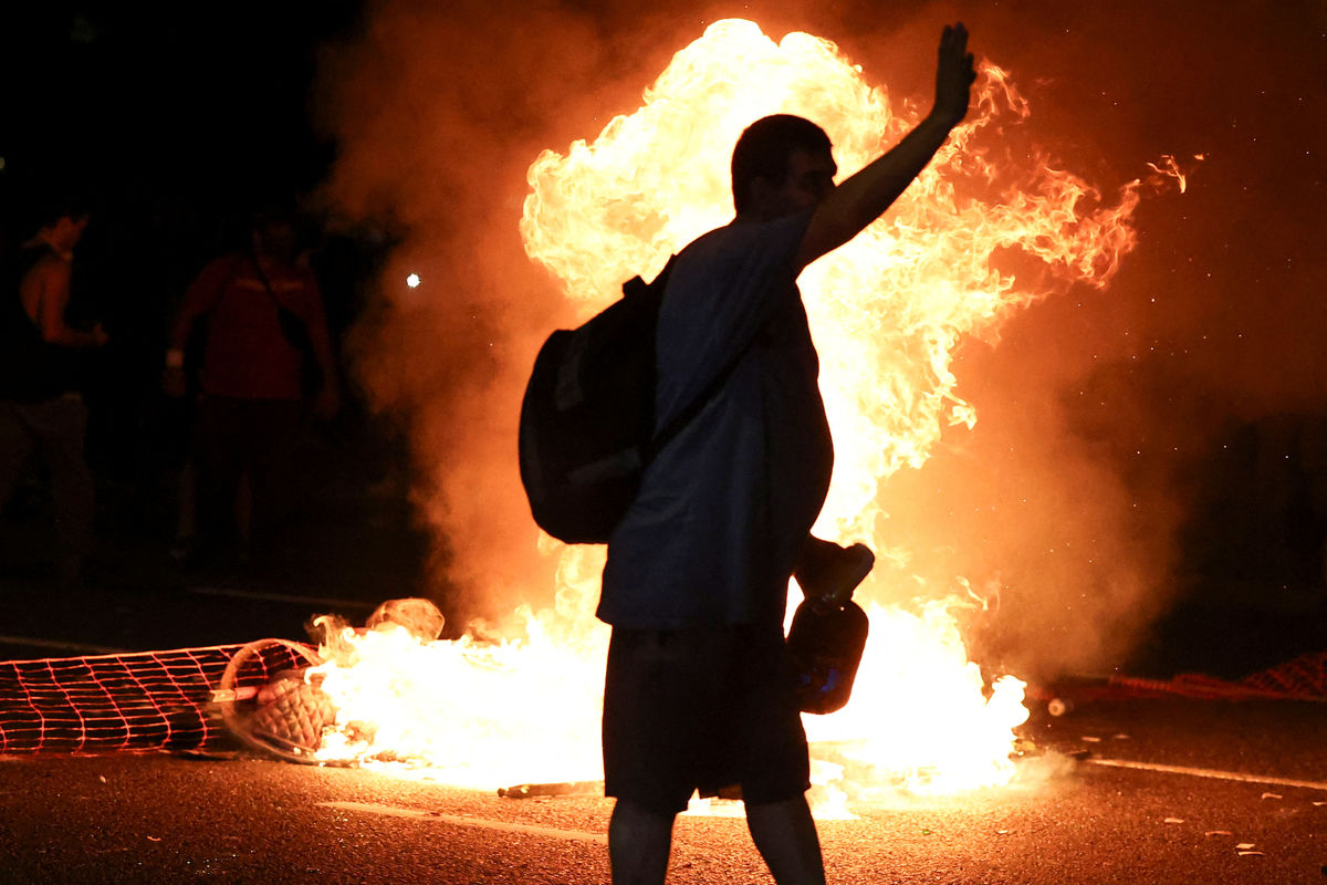
<svg viewBox="0 0 1327 885">
<path fill-rule="evenodd" d="M 1107 289 L 1059 292 L 998 344 L 967 342 L 954 372 L 977 427 L 882 490 L 913 573 L 966 576 L 987 601 L 974 633 L 990 662 L 1117 666 L 1184 586 L 1180 539 L 1221 482 L 1208 464 L 1225 435 L 1320 410 L 1323 161 L 1299 133 L 1323 118 L 1323 13 L 807 5 L 378 3 L 356 41 L 328 48 L 318 109 L 340 158 L 325 195 L 399 235 L 352 340 L 356 373 L 405 423 L 438 596 L 491 617 L 552 592 L 515 430 L 540 341 L 573 317 L 520 244 L 535 157 L 634 110 L 717 17 L 835 40 L 917 102 L 941 24 L 963 19 L 1027 96 L 1028 137 L 1103 192 L 1164 153 L 1206 157 L 1184 195 L 1139 208 L 1139 247 Z"/>
</svg>

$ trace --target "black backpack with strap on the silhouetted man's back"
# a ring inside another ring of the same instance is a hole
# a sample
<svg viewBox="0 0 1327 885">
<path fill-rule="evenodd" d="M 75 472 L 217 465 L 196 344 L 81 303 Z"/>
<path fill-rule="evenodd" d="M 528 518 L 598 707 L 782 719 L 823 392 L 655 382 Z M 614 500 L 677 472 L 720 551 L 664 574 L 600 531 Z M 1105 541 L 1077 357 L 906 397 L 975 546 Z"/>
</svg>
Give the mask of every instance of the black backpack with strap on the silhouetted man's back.
<svg viewBox="0 0 1327 885">
<path fill-rule="evenodd" d="M 723 382 L 723 370 L 654 434 L 654 333 L 673 259 L 653 283 L 633 277 L 621 300 L 576 329 L 548 336 L 520 407 L 520 479 L 539 527 L 568 544 L 606 544 L 641 474 Z M 750 346 L 750 345 L 748 345 Z"/>
</svg>

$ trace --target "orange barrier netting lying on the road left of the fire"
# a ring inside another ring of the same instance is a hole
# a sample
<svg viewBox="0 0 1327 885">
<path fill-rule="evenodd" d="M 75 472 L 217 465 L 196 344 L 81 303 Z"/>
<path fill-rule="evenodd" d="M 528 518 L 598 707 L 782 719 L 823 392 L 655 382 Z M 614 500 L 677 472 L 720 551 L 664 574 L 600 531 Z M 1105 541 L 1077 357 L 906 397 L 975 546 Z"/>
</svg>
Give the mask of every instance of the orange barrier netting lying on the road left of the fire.
<svg viewBox="0 0 1327 885">
<path fill-rule="evenodd" d="M 244 646 L 0 662 L 0 752 L 198 750 L 227 728 L 212 691 Z M 261 687 L 307 666 L 269 645 L 245 662 L 236 687 Z"/>
</svg>

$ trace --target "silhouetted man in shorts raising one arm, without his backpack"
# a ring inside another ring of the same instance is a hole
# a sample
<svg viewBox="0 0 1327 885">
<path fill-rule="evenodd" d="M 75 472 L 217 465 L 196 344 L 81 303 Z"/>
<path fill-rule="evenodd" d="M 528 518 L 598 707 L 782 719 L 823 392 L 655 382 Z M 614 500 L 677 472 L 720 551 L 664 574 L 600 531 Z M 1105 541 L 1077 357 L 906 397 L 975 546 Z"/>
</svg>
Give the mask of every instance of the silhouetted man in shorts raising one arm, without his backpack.
<svg viewBox="0 0 1327 885">
<path fill-rule="evenodd" d="M 614 885 L 664 882 L 675 815 L 693 791 L 733 785 L 775 881 L 824 882 L 783 617 L 795 571 L 851 573 L 864 548 L 809 536 L 833 450 L 796 277 L 889 208 L 967 113 L 974 78 L 966 29 L 946 27 L 930 114 L 837 186 L 819 126 L 756 121 L 733 153 L 736 218 L 674 261 L 658 318 L 658 426 L 740 360 L 649 464 L 609 539 L 597 614 L 613 626 Z"/>
</svg>

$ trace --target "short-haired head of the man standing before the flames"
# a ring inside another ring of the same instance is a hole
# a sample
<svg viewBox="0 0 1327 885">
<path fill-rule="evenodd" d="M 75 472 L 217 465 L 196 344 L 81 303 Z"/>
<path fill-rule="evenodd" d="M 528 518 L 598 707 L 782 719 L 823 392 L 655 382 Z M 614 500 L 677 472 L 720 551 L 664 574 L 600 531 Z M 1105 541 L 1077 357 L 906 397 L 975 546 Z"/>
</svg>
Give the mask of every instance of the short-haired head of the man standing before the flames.
<svg viewBox="0 0 1327 885">
<path fill-rule="evenodd" d="M 762 117 L 733 150 L 733 204 L 738 216 L 794 215 L 820 203 L 837 171 L 823 129 L 792 114 Z"/>
</svg>

